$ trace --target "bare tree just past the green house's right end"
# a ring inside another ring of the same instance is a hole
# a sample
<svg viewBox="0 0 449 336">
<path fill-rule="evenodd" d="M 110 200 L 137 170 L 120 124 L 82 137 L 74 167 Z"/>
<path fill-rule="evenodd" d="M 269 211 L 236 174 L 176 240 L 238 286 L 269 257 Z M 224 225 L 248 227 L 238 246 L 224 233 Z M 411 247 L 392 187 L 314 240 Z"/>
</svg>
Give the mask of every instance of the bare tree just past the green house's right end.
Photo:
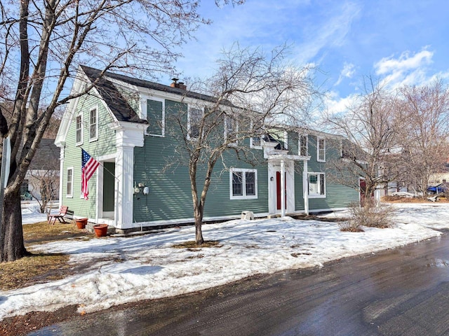
<svg viewBox="0 0 449 336">
<path fill-rule="evenodd" d="M 372 195 L 377 186 L 396 180 L 401 153 L 397 134 L 402 127 L 395 119 L 396 107 L 396 97 L 367 78 L 365 91 L 348 111 L 328 117 L 333 132 L 344 137 L 335 141 L 342 155 L 330 161 L 330 179 L 358 189 L 354 176 L 360 176 L 366 183 L 366 196 Z"/>
</svg>

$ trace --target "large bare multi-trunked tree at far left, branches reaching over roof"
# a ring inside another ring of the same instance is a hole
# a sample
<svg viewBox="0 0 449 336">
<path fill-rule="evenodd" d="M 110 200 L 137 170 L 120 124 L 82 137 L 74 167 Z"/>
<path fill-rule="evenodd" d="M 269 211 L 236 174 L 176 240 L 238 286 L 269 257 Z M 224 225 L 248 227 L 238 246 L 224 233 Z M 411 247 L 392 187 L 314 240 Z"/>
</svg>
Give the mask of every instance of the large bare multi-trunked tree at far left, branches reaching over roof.
<svg viewBox="0 0 449 336">
<path fill-rule="evenodd" d="M 0 1 L 0 94 L 13 102 L 11 123 L 0 113 L 0 135 L 11 139 L 12 148 L 0 261 L 27 254 L 20 185 L 53 113 L 75 98 L 61 95 L 76 67 L 145 70 L 153 76 L 172 72 L 171 64 L 180 56 L 177 47 L 198 25 L 210 23 L 201 18 L 198 6 L 190 0 Z"/>
</svg>

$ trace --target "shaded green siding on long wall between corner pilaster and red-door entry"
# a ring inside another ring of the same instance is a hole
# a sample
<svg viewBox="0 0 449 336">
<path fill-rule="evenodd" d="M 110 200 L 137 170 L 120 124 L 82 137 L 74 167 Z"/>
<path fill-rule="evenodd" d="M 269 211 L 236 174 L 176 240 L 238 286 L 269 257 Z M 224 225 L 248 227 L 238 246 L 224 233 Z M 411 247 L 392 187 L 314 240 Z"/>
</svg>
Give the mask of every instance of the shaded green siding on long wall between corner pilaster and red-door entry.
<svg viewBox="0 0 449 336">
<path fill-rule="evenodd" d="M 190 187 L 188 167 L 180 157 L 177 157 L 176 144 L 179 131 L 173 132 L 168 125 L 170 116 L 185 114 L 187 124 L 187 105 L 166 100 L 166 137 L 145 137 L 145 146 L 135 148 L 135 183 L 145 183 L 149 186 L 149 195 L 138 193 L 134 195 L 134 221 L 163 221 L 167 219 L 193 218 L 192 192 Z M 172 121 L 173 123 L 173 121 Z M 249 147 L 249 140 L 248 142 Z M 256 156 L 263 160 L 263 152 L 257 151 Z M 168 167 L 170 164 L 176 165 Z M 222 162 L 217 162 L 214 169 L 213 181 L 210 184 L 204 216 L 238 215 L 243 210 L 254 212 L 268 211 L 267 194 L 267 164 L 252 167 L 248 163 L 236 160 L 233 151 L 225 154 L 227 167 L 240 169 L 257 169 L 257 199 L 230 200 L 229 172 L 223 172 Z M 199 167 L 197 174 L 197 188 L 199 193 L 203 188 L 204 171 Z"/>
</svg>

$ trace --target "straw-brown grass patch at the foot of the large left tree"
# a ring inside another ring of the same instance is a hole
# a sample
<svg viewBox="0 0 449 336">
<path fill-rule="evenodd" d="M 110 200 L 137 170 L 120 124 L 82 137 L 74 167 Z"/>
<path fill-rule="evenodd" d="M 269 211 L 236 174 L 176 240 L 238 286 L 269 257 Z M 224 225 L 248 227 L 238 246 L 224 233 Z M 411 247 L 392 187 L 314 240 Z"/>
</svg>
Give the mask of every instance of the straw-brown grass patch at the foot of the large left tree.
<svg viewBox="0 0 449 336">
<path fill-rule="evenodd" d="M 11 262 L 0 263 L 0 290 L 24 288 L 34 283 L 63 279 L 69 255 L 36 253 Z"/>
</svg>

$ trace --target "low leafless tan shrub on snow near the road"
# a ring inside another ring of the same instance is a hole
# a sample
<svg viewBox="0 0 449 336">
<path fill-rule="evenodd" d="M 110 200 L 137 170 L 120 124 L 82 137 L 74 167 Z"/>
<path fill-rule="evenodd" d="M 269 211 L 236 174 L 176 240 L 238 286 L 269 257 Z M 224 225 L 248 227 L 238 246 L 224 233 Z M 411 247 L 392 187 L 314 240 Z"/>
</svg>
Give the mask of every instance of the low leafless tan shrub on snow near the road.
<svg viewBox="0 0 449 336">
<path fill-rule="evenodd" d="M 349 212 L 351 213 L 349 222 L 354 221 L 360 226 L 370 228 L 388 228 L 394 209 L 386 204 L 376 204 L 373 199 L 366 199 L 363 207 L 357 203 L 349 204 Z"/>
</svg>

